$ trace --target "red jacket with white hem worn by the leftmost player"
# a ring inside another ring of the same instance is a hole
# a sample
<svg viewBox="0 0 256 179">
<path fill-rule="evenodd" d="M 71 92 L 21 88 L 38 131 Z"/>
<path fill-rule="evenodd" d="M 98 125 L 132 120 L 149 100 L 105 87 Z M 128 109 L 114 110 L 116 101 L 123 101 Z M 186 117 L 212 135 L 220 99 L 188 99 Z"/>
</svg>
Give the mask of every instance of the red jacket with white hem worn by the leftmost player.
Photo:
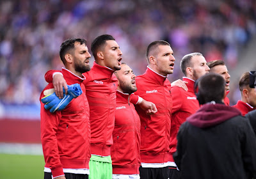
<svg viewBox="0 0 256 179">
<path fill-rule="evenodd" d="M 67 84 L 78 83 L 82 93 L 74 98 L 63 111 L 51 113 L 41 102 L 41 140 L 45 158 L 45 171 L 53 177 L 68 173 L 88 173 L 90 160 L 90 121 L 89 105 L 85 88 L 81 82 L 84 77 L 72 74 L 66 68 L 62 70 Z M 45 89 L 53 88 L 52 83 Z M 44 90 L 45 90 L 44 89 Z M 40 99 L 44 97 L 44 91 Z"/>
</svg>

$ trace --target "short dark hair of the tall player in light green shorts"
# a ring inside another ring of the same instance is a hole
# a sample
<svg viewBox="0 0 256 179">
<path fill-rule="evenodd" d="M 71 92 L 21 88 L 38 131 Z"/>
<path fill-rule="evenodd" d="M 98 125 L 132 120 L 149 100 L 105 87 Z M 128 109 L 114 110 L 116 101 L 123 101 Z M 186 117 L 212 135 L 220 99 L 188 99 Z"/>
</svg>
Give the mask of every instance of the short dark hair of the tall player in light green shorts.
<svg viewBox="0 0 256 179">
<path fill-rule="evenodd" d="M 91 49 L 94 58 L 96 58 L 99 48 L 102 47 L 102 45 L 105 45 L 107 40 L 115 40 L 115 38 L 111 35 L 100 35 L 93 40 Z"/>
</svg>

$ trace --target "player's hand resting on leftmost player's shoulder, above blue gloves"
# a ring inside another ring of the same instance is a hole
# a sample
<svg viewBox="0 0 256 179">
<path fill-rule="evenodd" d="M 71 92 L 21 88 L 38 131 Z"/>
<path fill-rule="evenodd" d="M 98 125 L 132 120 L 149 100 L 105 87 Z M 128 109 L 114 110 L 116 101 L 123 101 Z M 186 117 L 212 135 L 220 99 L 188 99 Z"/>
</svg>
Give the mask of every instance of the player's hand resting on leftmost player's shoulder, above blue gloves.
<svg viewBox="0 0 256 179">
<path fill-rule="evenodd" d="M 63 75 L 56 74 L 52 79 L 52 84 L 56 93 L 56 96 L 60 99 L 63 98 L 63 88 L 65 89 L 65 94 L 68 94 L 68 86 Z"/>
</svg>

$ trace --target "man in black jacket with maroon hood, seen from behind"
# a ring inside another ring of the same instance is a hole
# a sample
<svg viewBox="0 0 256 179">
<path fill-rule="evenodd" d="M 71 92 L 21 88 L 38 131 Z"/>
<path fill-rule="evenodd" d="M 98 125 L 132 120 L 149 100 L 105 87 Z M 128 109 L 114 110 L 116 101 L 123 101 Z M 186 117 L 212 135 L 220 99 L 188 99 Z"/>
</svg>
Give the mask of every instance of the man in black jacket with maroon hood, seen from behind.
<svg viewBox="0 0 256 179">
<path fill-rule="evenodd" d="M 173 155 L 182 178 L 252 178 L 256 138 L 250 122 L 223 103 L 223 77 L 207 74 L 196 84 L 203 105 L 181 125 Z"/>
</svg>

